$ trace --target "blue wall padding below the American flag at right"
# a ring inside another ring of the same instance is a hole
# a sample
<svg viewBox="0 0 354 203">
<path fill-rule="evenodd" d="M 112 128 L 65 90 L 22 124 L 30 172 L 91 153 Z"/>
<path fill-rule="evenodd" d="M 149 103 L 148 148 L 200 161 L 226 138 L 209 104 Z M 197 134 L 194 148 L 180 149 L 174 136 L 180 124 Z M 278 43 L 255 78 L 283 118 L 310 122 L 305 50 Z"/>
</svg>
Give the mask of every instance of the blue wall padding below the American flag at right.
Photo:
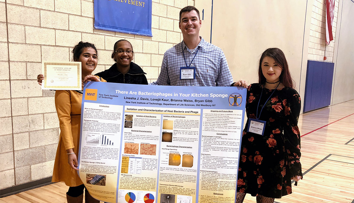
<svg viewBox="0 0 354 203">
<path fill-rule="evenodd" d="M 307 61 L 304 112 L 331 104 L 334 63 Z"/>
</svg>

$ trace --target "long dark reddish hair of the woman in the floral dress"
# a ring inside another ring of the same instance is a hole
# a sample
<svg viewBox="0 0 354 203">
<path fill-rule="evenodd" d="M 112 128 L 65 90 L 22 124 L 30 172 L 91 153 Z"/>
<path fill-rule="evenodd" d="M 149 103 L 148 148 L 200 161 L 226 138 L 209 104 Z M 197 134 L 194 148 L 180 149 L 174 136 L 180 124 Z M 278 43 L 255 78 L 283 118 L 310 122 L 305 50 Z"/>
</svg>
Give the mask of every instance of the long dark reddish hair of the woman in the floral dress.
<svg viewBox="0 0 354 203">
<path fill-rule="evenodd" d="M 265 56 L 269 56 L 275 60 L 275 62 L 282 68 L 282 72 L 279 76 L 280 82 L 285 86 L 292 88 L 293 87 L 293 80 L 290 76 L 289 66 L 287 64 L 286 58 L 282 50 L 278 48 L 269 48 L 265 50 L 259 59 L 259 67 L 258 67 L 258 82 L 259 84 L 265 83 L 265 77 L 262 73 L 262 61 Z"/>
</svg>

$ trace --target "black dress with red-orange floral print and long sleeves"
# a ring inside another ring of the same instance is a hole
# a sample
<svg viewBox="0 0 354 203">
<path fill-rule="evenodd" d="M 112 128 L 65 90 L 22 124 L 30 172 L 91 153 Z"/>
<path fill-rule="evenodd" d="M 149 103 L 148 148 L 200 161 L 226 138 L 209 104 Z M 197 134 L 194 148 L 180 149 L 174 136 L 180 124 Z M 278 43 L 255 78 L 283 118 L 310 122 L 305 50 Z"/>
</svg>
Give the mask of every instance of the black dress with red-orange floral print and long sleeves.
<svg viewBox="0 0 354 203">
<path fill-rule="evenodd" d="M 255 83 L 247 91 L 247 123 L 242 135 L 237 191 L 281 198 L 291 193 L 291 178 L 302 176 L 297 127 L 301 99 L 292 88 L 275 90 L 259 118 L 267 122 L 264 135 L 247 132 L 249 118 L 256 119 L 262 88 Z M 263 88 L 258 114 L 272 92 Z"/>
</svg>

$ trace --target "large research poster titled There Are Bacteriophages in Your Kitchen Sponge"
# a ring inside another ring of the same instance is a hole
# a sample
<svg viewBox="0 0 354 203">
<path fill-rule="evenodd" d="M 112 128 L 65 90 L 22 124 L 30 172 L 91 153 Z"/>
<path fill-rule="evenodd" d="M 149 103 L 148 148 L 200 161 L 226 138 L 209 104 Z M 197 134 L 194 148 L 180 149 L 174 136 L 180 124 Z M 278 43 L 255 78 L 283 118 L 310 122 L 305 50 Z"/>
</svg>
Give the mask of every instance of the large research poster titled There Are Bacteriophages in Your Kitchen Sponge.
<svg viewBox="0 0 354 203">
<path fill-rule="evenodd" d="M 246 89 L 88 82 L 79 175 L 111 203 L 234 203 Z"/>
</svg>

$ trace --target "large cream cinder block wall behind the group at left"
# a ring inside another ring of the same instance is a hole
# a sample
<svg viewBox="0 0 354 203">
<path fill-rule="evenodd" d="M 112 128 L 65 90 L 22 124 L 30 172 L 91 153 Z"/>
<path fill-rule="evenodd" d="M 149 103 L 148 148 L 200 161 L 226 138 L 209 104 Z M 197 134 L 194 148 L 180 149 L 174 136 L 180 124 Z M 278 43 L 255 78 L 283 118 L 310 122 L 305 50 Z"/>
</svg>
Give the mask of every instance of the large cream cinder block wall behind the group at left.
<svg viewBox="0 0 354 203">
<path fill-rule="evenodd" d="M 41 90 L 42 61 L 71 61 L 79 41 L 94 43 L 108 69 L 113 45 L 129 40 L 150 82 L 163 54 L 182 41 L 179 10 L 194 0 L 153 0 L 153 37 L 93 29 L 93 0 L 0 0 L 0 189 L 52 175 L 59 137 L 54 91 Z"/>
</svg>

